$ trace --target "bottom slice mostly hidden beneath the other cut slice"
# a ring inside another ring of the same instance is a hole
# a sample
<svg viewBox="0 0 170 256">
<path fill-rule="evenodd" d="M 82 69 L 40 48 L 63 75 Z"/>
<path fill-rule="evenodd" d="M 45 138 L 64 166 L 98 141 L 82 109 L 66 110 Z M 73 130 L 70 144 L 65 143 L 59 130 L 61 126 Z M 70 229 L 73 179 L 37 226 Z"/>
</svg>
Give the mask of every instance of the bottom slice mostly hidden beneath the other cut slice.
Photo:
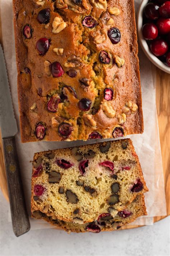
<svg viewBox="0 0 170 256">
<path fill-rule="evenodd" d="M 55 228 L 63 229 L 68 233 L 86 231 L 99 233 L 100 231 L 117 230 L 122 226 L 133 222 L 137 217 L 147 215 L 144 195 L 137 196 L 125 210 L 118 212 L 115 217 L 111 216 L 109 213 L 101 214 L 98 217 L 98 220 L 86 224 L 80 224 L 82 220 L 76 217 L 74 222 L 58 220 L 53 210 L 54 209 L 50 205 L 46 205 L 46 212 L 41 212 L 39 210 L 34 211 L 32 217 L 35 219 L 46 220 L 48 223 L 54 225 Z M 75 216 L 77 214 L 78 212 L 75 213 Z"/>
</svg>

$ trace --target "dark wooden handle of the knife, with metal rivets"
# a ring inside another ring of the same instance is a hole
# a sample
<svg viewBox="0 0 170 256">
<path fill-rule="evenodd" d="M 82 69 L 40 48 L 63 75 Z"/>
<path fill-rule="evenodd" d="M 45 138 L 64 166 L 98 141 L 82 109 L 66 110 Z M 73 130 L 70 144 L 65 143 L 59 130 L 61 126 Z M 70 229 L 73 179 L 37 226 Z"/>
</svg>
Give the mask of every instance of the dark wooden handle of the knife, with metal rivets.
<svg viewBox="0 0 170 256">
<path fill-rule="evenodd" d="M 15 138 L 4 138 L 4 158 L 13 230 L 16 237 L 30 229 L 29 217 L 24 200 Z"/>
</svg>

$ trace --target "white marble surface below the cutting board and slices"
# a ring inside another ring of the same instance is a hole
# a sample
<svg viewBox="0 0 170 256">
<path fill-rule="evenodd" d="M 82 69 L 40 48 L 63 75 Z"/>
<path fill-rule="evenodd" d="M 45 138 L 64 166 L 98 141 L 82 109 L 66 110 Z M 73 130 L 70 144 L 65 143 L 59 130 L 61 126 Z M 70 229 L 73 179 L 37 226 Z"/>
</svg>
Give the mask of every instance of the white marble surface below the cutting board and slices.
<svg viewBox="0 0 170 256">
<path fill-rule="evenodd" d="M 31 230 L 15 237 L 0 192 L 0 256 L 169 256 L 170 217 L 152 226 L 99 234 Z"/>
</svg>

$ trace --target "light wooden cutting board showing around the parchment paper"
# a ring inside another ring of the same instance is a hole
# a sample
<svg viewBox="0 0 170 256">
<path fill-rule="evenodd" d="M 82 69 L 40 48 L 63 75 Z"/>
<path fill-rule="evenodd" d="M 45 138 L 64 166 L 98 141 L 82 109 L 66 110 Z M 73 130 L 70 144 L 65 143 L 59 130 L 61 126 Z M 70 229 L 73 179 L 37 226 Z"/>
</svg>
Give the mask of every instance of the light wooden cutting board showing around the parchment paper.
<svg viewBox="0 0 170 256">
<path fill-rule="evenodd" d="M 1 17 L 0 17 L 0 43 L 3 45 L 2 32 L 1 32 Z M 148 60 L 149 61 L 149 60 Z M 152 64 L 152 69 L 155 70 Z M 165 181 L 165 194 L 166 194 L 166 207 L 167 216 L 170 215 L 170 75 L 156 68 L 156 107 L 159 123 L 162 163 L 164 170 Z M 3 145 L 0 134 L 0 188 L 6 200 L 8 199 L 8 189 L 5 175 L 5 166 L 3 158 Z M 164 219 L 167 216 L 154 217 L 154 222 Z M 123 226 L 121 229 L 137 228 L 140 225 Z"/>
</svg>

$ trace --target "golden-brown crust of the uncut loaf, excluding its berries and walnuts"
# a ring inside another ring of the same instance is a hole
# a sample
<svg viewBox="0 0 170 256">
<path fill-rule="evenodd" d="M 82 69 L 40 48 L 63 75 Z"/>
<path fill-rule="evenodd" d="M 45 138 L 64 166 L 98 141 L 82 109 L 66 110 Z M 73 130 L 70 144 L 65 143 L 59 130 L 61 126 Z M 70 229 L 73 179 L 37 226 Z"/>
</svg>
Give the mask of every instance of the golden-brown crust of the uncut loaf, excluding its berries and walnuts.
<svg viewBox="0 0 170 256">
<path fill-rule="evenodd" d="M 54 34 L 52 33 L 52 22 L 55 17 L 60 15 L 53 11 L 54 2 L 46 1 L 41 7 L 41 5 L 36 4 L 37 1 L 13 0 L 22 142 L 38 140 L 35 136 L 35 128 L 39 122 L 46 128 L 44 140 L 49 141 L 65 139 L 87 140 L 89 134 L 94 131 L 99 132 L 103 138 L 113 138 L 112 132 L 114 127 L 117 126 L 123 128 L 124 135 L 143 133 L 140 74 L 137 57 L 138 46 L 133 0 L 116 0 L 114 4 L 111 0 L 107 2 L 107 10 L 110 7 L 117 7 L 120 10 L 120 15 L 118 16 L 107 13 L 114 21 L 113 26 L 118 27 L 121 31 L 121 41 L 114 45 L 109 40 L 107 34 L 105 34 L 106 40 L 103 44 L 96 44 L 94 42 L 95 36 L 98 33 L 101 34 L 100 31 L 103 28 L 107 30 L 110 28 L 110 26 L 102 22 L 102 15 L 105 15 L 103 9 L 96 8 L 92 3 L 89 4 L 89 11 L 80 5 L 81 13 L 64 9 L 64 12 L 60 13 L 62 13 L 61 16 L 65 19 L 67 26 L 60 33 Z M 45 24 L 40 24 L 37 21 L 39 10 L 44 8 L 49 8 L 51 11 L 48 29 L 44 28 Z M 99 23 L 98 26 L 91 30 L 81 25 L 82 18 L 89 14 L 95 17 Z M 25 24 L 30 24 L 33 28 L 31 39 L 24 39 L 22 31 Z M 41 37 L 51 39 L 49 50 L 44 56 L 38 54 L 35 46 L 37 40 Z M 56 47 L 64 49 L 63 56 L 58 56 L 53 51 L 53 48 Z M 101 50 L 108 51 L 113 59 L 116 56 L 123 58 L 125 64 L 120 68 L 118 68 L 117 64 L 109 64 L 109 66 L 101 64 L 98 59 Z M 76 68 L 77 76 L 75 78 L 67 75 L 66 71 L 69 68 L 64 66 L 71 55 L 80 57 L 83 63 L 82 68 Z M 60 62 L 65 71 L 64 75 L 58 78 L 54 78 L 52 75 L 48 76 L 44 71 L 45 60 L 51 63 L 55 61 Z M 94 70 L 95 63 L 97 63 L 99 73 Z M 30 69 L 31 75 L 24 72 L 25 67 Z M 90 81 L 90 86 L 87 90 L 84 90 L 79 82 L 79 79 L 84 77 Z M 60 83 L 74 87 L 78 99 L 71 97 L 70 102 L 60 103 L 57 112 L 52 113 L 47 110 L 47 101 L 49 99 L 47 95 L 51 95 L 53 89 L 56 89 L 57 93 L 60 94 Z M 109 118 L 102 109 L 104 102 L 103 90 L 105 87 L 111 87 L 114 91 L 113 100 L 109 101 L 115 111 L 115 116 L 112 118 Z M 42 89 L 41 96 L 38 95 L 39 88 Z M 92 101 L 92 105 L 95 101 L 98 112 L 91 115 L 91 109 L 85 112 L 80 111 L 77 103 L 81 98 L 89 98 Z M 137 104 L 138 109 L 133 114 L 128 113 L 126 115 L 126 122 L 121 124 L 118 121 L 118 116 L 123 113 L 124 105 L 128 100 Z M 33 103 L 37 105 L 36 112 L 30 111 Z M 94 121 L 93 123 L 96 123 L 95 126 L 91 123 L 87 125 L 87 122 L 85 122 L 86 114 L 90 114 L 90 118 Z M 53 117 L 57 117 L 57 120 L 59 117 L 55 127 L 52 127 Z M 79 123 L 81 124 L 77 124 L 77 118 L 79 118 Z M 73 127 L 73 131 L 68 138 L 63 138 L 58 134 L 58 126 L 61 122 L 68 122 Z"/>
</svg>

